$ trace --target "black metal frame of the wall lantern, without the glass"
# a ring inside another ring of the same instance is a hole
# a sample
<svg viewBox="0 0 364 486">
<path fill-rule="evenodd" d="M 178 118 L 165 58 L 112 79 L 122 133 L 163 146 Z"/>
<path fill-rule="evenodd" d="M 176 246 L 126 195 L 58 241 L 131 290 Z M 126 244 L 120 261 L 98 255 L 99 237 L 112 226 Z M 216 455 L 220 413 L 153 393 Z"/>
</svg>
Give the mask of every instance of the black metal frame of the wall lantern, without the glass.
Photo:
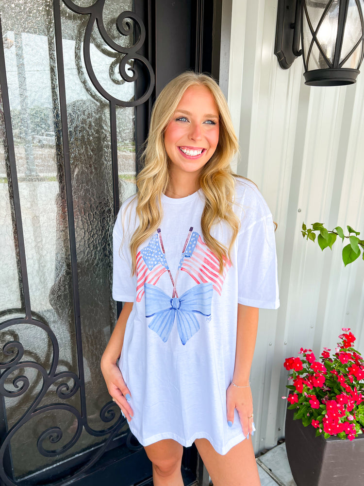
<svg viewBox="0 0 364 486">
<path fill-rule="evenodd" d="M 314 29 L 307 11 L 306 0 L 279 0 L 278 1 L 278 15 L 276 28 L 276 42 L 274 53 L 278 58 L 278 62 L 282 69 L 288 69 L 293 64 L 295 59 L 302 55 L 304 65 L 305 84 L 310 86 L 339 86 L 348 85 L 356 82 L 359 74 L 359 68 L 364 58 L 364 17 L 360 0 L 355 0 L 358 8 L 358 13 L 361 22 L 362 35 L 353 45 L 350 52 L 342 60 L 341 51 L 343 46 L 343 38 L 345 33 L 345 25 L 347 20 L 347 12 L 350 0 L 340 0 L 339 14 L 337 24 L 337 34 L 335 40 L 335 52 L 332 61 L 324 52 L 317 34 L 325 16 L 330 9 L 334 0 L 323 1 L 325 8 L 321 14 L 321 18 Z M 312 39 L 307 53 L 304 49 L 303 42 L 303 18 L 306 18 L 308 27 L 310 29 Z M 356 69 L 343 68 L 350 56 L 356 51 L 358 46 L 362 44 L 362 52 L 357 63 Z M 300 45 L 302 46 L 300 49 Z M 308 69 L 309 59 L 312 54 L 313 46 L 316 45 L 322 59 L 326 62 L 327 68 L 323 69 Z"/>
</svg>

